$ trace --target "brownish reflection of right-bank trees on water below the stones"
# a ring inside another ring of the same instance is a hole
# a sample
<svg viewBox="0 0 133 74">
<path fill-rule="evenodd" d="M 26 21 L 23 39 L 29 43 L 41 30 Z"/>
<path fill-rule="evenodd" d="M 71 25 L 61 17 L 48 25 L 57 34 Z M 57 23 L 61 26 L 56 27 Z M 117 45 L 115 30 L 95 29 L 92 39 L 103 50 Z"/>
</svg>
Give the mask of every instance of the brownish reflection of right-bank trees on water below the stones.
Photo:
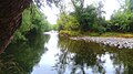
<svg viewBox="0 0 133 74">
<path fill-rule="evenodd" d="M 103 64 L 106 61 L 101 60 L 101 57 L 105 54 L 109 54 L 110 60 L 113 62 L 111 65 L 115 70 L 114 74 L 133 73 L 133 50 L 117 50 L 93 42 L 72 41 L 63 38 L 59 40 L 59 47 L 61 52 L 55 67 L 61 72 L 60 74 L 66 72 L 66 68 L 71 68 L 71 74 L 85 74 L 88 68 L 91 68 L 92 73 L 104 74 Z"/>
</svg>

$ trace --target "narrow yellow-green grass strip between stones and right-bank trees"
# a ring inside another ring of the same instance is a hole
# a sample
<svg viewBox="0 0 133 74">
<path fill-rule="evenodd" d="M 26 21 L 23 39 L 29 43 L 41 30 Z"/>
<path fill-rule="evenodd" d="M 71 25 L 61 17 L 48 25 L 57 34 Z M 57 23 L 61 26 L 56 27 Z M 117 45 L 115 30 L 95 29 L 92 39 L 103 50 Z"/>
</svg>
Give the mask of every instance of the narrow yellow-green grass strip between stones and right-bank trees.
<svg viewBox="0 0 133 74">
<path fill-rule="evenodd" d="M 133 38 L 133 33 L 119 33 L 119 32 L 105 32 L 105 33 L 96 33 L 96 32 L 81 32 L 81 31 L 66 31 L 61 30 L 60 35 L 62 36 L 114 36 L 114 38 Z"/>
</svg>

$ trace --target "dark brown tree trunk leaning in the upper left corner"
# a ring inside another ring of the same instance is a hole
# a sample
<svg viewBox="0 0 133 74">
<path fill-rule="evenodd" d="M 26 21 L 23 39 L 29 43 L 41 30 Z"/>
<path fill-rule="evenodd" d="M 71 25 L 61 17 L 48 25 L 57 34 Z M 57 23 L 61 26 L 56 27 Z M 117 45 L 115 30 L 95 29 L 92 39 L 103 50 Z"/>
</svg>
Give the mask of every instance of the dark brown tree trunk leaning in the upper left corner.
<svg viewBox="0 0 133 74">
<path fill-rule="evenodd" d="M 0 53 L 21 25 L 22 11 L 30 6 L 30 2 L 31 0 L 0 0 Z"/>
</svg>

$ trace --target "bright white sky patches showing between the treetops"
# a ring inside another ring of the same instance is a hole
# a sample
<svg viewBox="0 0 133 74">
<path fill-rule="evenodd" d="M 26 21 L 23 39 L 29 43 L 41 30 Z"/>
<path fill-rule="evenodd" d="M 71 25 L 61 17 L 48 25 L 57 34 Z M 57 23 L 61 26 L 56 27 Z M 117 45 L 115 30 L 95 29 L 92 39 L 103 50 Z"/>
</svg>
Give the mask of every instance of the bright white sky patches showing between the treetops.
<svg viewBox="0 0 133 74">
<path fill-rule="evenodd" d="M 66 0 L 69 1 L 69 0 Z M 101 0 L 84 0 L 85 4 L 91 4 L 91 3 L 95 3 L 98 1 Z M 117 10 L 120 8 L 120 3 L 117 2 L 117 0 L 102 0 L 104 7 L 103 10 L 106 12 L 105 19 L 110 20 L 111 14 L 113 13 L 114 10 Z M 43 13 L 47 15 L 48 21 L 51 24 L 55 24 L 57 23 L 57 19 L 58 19 L 58 14 L 59 14 L 59 10 L 55 7 L 48 7 L 45 6 L 44 8 L 42 8 Z"/>
</svg>

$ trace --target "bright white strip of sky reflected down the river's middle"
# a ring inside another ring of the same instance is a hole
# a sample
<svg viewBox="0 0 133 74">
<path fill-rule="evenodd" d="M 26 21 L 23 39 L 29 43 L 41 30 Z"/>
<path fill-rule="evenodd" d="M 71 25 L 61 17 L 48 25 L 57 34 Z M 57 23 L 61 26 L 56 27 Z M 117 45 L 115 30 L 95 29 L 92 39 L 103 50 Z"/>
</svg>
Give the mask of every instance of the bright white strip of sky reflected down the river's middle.
<svg viewBox="0 0 133 74">
<path fill-rule="evenodd" d="M 55 74 L 53 65 L 55 63 L 55 54 L 59 53 L 58 49 L 58 33 L 47 32 L 44 34 L 50 34 L 50 40 L 45 43 L 48 52 L 41 56 L 40 62 L 33 67 L 31 74 Z"/>
</svg>

